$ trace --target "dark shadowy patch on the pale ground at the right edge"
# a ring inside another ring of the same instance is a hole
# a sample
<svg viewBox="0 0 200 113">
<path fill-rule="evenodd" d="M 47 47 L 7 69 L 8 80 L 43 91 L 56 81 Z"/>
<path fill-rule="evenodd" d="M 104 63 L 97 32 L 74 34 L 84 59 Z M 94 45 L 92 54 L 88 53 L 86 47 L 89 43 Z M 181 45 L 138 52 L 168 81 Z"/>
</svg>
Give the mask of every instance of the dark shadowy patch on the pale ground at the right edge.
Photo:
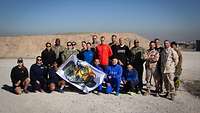
<svg viewBox="0 0 200 113">
<path fill-rule="evenodd" d="M 200 97 L 200 80 L 186 81 L 183 86 L 192 95 Z"/>
</svg>

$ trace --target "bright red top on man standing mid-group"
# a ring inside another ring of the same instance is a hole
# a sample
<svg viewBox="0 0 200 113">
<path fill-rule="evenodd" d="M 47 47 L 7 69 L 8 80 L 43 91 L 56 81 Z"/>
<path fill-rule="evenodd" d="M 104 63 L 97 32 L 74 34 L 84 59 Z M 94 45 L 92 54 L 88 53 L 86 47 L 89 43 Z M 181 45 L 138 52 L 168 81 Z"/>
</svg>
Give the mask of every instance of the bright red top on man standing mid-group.
<svg viewBox="0 0 200 113">
<path fill-rule="evenodd" d="M 112 49 L 110 46 L 107 44 L 99 44 L 96 47 L 96 51 L 101 65 L 108 65 L 109 57 L 112 56 Z"/>
</svg>

